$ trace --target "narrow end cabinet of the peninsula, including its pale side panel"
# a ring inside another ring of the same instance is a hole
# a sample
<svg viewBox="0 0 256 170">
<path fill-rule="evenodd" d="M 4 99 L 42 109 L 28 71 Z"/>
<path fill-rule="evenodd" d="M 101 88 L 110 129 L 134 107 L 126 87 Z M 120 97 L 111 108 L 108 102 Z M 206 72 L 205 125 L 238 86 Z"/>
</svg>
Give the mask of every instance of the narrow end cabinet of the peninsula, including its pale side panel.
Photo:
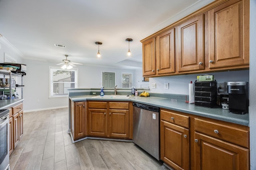
<svg viewBox="0 0 256 170">
<path fill-rule="evenodd" d="M 87 135 L 86 102 L 71 102 L 70 108 L 71 134 L 75 141 Z"/>
</svg>

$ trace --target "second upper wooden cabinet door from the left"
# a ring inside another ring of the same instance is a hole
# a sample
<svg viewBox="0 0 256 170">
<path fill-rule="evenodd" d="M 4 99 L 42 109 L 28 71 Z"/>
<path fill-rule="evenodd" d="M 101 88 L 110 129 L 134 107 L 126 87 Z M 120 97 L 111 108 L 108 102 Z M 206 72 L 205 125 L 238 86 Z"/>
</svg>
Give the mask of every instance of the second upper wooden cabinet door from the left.
<svg viewBox="0 0 256 170">
<path fill-rule="evenodd" d="M 175 72 L 174 28 L 158 35 L 156 43 L 157 74 Z"/>
</svg>

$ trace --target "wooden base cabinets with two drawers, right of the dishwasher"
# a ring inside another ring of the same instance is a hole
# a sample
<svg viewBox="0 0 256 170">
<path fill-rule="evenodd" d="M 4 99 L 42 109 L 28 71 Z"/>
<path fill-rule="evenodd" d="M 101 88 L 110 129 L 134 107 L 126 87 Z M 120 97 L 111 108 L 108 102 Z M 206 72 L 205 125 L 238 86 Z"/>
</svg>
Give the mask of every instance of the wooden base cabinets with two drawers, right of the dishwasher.
<svg viewBox="0 0 256 170">
<path fill-rule="evenodd" d="M 249 170 L 249 127 L 160 109 L 160 158 L 175 170 Z"/>
</svg>

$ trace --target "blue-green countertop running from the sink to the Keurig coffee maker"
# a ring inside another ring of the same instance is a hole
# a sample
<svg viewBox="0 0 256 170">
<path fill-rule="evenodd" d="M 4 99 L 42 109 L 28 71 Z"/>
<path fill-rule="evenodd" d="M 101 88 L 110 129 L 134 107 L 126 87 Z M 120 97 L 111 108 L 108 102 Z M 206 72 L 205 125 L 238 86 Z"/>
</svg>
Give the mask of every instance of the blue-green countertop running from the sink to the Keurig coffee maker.
<svg viewBox="0 0 256 170">
<path fill-rule="evenodd" d="M 128 99 L 92 98 L 92 97 L 93 97 L 92 95 L 84 95 L 84 96 L 72 96 L 69 98 L 74 102 L 85 101 L 85 100 L 132 101 L 132 102 L 138 102 L 141 104 L 147 104 L 150 106 L 156 106 L 156 107 L 162 107 L 162 108 L 170 109 L 174 111 L 180 111 L 183 113 L 189 113 L 192 115 L 198 115 L 202 117 L 208 117 L 208 118 L 226 121 L 230 123 L 249 126 L 249 114 L 238 115 L 238 114 L 229 113 L 228 109 L 199 107 L 199 106 L 195 106 L 194 104 L 188 104 L 183 100 L 158 98 L 158 97 L 146 98 L 146 97 L 140 97 L 140 96 L 131 96 Z"/>
</svg>

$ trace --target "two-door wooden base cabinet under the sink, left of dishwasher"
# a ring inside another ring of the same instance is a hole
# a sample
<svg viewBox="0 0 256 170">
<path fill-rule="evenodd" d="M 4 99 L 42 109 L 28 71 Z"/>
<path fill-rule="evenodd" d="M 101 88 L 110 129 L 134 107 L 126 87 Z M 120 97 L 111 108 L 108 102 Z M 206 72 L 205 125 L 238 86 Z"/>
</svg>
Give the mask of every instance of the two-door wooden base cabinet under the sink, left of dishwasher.
<svg viewBox="0 0 256 170">
<path fill-rule="evenodd" d="M 88 102 L 88 135 L 130 138 L 129 102 Z M 131 107 L 132 108 L 132 107 Z"/>
</svg>

